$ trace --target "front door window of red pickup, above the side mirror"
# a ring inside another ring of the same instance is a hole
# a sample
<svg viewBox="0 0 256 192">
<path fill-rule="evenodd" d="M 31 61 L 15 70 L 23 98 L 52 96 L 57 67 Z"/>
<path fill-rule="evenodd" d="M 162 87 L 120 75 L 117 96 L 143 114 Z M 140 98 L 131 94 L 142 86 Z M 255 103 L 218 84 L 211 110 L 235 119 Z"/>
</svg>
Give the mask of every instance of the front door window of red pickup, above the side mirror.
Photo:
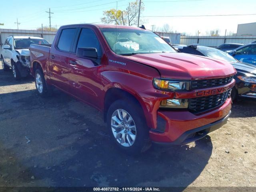
<svg viewBox="0 0 256 192">
<path fill-rule="evenodd" d="M 90 29 L 83 28 L 78 40 L 78 44 L 76 48 L 85 48 L 85 47 L 93 47 L 97 49 L 98 56 L 102 55 L 102 50 L 100 48 L 100 43 L 94 34 L 94 32 Z"/>
</svg>

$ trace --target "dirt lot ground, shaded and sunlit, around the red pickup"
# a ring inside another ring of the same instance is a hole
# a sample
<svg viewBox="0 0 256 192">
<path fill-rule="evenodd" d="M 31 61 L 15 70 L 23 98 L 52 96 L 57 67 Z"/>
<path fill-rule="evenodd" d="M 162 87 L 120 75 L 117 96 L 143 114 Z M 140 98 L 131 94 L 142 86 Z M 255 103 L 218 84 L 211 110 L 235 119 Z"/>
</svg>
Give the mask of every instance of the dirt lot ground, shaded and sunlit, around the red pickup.
<svg viewBox="0 0 256 192">
<path fill-rule="evenodd" d="M 252 99 L 202 140 L 134 157 L 111 145 L 94 108 L 58 90 L 40 98 L 33 78 L 0 70 L 0 130 L 0 186 L 256 186 Z"/>
</svg>

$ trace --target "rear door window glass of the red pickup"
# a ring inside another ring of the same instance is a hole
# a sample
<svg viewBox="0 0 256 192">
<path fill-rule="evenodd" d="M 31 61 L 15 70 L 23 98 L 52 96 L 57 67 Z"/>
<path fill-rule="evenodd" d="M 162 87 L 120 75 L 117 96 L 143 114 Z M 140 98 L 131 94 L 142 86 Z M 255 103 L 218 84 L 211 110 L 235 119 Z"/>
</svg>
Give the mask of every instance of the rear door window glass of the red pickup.
<svg viewBox="0 0 256 192">
<path fill-rule="evenodd" d="M 76 28 L 63 29 L 57 47 L 63 51 L 70 51 L 75 35 Z"/>
</svg>

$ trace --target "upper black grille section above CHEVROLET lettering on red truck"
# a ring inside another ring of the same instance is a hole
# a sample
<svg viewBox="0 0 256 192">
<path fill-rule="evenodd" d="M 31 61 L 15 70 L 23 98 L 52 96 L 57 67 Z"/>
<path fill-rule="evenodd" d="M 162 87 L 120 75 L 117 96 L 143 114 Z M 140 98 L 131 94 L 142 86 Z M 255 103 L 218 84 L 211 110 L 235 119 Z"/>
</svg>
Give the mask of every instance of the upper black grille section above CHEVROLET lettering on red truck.
<svg viewBox="0 0 256 192">
<path fill-rule="evenodd" d="M 204 79 L 204 80 L 191 81 L 191 89 L 195 90 L 195 89 L 221 86 L 221 85 L 230 83 L 233 77 L 234 76 L 221 78 L 221 79 Z"/>
</svg>

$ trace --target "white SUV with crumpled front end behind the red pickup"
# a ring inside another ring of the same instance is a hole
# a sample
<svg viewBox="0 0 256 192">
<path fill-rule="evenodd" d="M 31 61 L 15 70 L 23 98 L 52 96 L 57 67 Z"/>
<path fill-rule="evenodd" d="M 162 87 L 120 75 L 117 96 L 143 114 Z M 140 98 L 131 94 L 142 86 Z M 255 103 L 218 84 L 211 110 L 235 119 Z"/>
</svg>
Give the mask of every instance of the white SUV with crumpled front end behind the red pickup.
<svg viewBox="0 0 256 192">
<path fill-rule="evenodd" d="M 30 53 L 28 50 L 30 44 L 49 44 L 49 42 L 40 37 L 9 36 L 2 46 L 2 68 L 4 71 L 12 68 L 16 80 L 30 74 Z"/>
</svg>

